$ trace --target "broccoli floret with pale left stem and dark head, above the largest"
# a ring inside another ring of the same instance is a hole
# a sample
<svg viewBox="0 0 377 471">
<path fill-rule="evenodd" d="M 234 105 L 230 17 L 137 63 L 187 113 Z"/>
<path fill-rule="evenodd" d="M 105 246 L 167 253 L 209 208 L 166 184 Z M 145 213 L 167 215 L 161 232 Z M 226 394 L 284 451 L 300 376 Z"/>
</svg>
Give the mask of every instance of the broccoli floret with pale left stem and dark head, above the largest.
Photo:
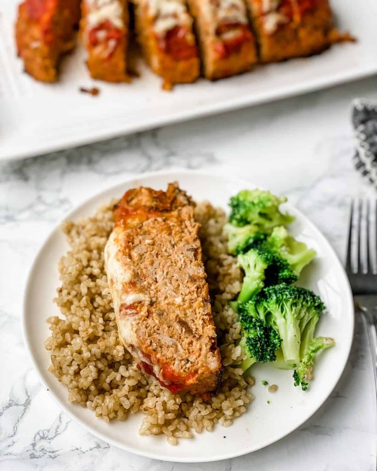
<svg viewBox="0 0 377 471">
<path fill-rule="evenodd" d="M 287 261 L 271 251 L 265 241 L 254 245 L 253 249 L 238 255 L 238 265 L 245 271 L 238 302 L 246 302 L 264 286 L 290 284 L 297 280 Z"/>
</svg>

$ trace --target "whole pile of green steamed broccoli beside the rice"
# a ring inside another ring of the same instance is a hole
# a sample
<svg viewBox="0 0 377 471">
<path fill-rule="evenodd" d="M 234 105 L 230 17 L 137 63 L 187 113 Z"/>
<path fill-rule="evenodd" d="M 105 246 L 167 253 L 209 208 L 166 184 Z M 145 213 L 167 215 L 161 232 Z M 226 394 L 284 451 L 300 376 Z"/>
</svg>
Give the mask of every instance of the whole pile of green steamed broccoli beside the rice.
<svg viewBox="0 0 377 471">
<path fill-rule="evenodd" d="M 238 255 L 245 276 L 237 301 L 229 305 L 242 327 L 239 345 L 247 358 L 241 368 L 269 361 L 279 368 L 295 368 L 295 385 L 306 390 L 316 353 L 335 342 L 314 338 L 324 309 L 319 296 L 291 285 L 315 251 L 288 234 L 285 226 L 295 218 L 279 211 L 285 201 L 258 189 L 231 198 L 224 233 L 228 252 Z"/>
</svg>

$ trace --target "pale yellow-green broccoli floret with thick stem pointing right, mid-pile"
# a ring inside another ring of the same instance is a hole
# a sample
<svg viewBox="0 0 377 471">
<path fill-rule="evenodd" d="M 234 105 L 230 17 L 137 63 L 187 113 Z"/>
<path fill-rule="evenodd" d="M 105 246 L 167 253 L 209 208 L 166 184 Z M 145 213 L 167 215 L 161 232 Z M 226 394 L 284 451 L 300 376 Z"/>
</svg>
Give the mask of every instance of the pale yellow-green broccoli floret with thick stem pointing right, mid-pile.
<svg viewBox="0 0 377 471">
<path fill-rule="evenodd" d="M 300 275 L 301 270 L 316 255 L 315 250 L 308 249 L 303 242 L 296 241 L 283 226 L 273 229 L 272 234 L 267 238 L 267 245 L 271 250 L 279 253 L 284 260 L 287 260 L 296 276 Z"/>
</svg>

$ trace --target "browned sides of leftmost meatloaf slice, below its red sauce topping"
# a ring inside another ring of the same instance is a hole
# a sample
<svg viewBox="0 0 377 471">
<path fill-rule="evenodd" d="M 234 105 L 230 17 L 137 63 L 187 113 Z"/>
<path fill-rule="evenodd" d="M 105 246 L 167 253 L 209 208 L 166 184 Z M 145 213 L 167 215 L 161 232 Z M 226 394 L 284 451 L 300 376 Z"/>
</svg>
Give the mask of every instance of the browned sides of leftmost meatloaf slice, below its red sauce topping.
<svg viewBox="0 0 377 471">
<path fill-rule="evenodd" d="M 25 72 L 44 82 L 57 80 L 57 68 L 63 54 L 74 48 L 75 26 L 79 21 L 79 0 L 58 2 L 52 19 L 54 41 L 46 44 L 41 23 L 29 17 L 26 2 L 18 8 L 16 45 L 24 61 Z"/>
</svg>

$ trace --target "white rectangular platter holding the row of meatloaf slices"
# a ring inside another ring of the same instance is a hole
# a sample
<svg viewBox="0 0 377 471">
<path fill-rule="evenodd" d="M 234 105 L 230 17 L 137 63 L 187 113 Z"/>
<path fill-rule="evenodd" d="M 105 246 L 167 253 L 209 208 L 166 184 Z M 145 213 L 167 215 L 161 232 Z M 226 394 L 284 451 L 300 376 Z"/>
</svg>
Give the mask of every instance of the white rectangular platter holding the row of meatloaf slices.
<svg viewBox="0 0 377 471">
<path fill-rule="evenodd" d="M 377 73 L 376 0 L 332 0 L 336 24 L 357 43 L 217 82 L 161 89 L 140 62 L 131 84 L 90 79 L 79 45 L 64 59 L 56 84 L 34 81 L 16 57 L 14 22 L 19 0 L 0 1 L 0 160 L 43 154 L 139 130 L 261 104 Z M 80 87 L 97 87 L 92 97 Z M 360 91 L 362 94 L 362 90 Z"/>
</svg>

